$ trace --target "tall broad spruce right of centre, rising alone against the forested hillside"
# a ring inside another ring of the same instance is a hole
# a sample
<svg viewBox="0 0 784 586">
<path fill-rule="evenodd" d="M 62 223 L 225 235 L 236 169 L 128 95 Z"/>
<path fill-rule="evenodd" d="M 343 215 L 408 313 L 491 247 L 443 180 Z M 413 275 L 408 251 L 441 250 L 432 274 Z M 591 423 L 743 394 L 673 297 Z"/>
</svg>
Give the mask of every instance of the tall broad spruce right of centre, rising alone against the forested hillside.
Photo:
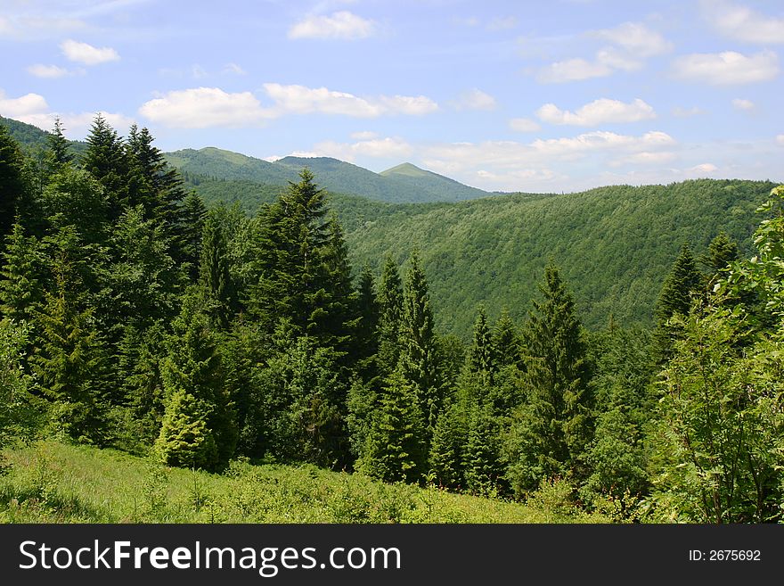
<svg viewBox="0 0 784 586">
<path fill-rule="evenodd" d="M 580 474 L 591 439 L 591 400 L 585 346 L 575 302 L 549 264 L 525 330 L 527 404 L 512 431 L 510 480 L 516 491 L 533 490 L 555 475 Z"/>
</svg>

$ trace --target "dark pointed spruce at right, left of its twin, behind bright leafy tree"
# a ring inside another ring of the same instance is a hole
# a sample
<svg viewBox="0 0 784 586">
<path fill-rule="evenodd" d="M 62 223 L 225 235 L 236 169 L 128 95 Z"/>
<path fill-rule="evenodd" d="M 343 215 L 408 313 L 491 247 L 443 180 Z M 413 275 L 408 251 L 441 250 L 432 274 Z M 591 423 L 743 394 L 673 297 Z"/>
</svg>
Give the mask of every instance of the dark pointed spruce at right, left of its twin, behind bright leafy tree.
<svg viewBox="0 0 784 586">
<path fill-rule="evenodd" d="M 702 276 L 691 255 L 689 244 L 683 244 L 657 301 L 654 347 L 659 364 L 672 356 L 674 340 L 679 335 L 679 327 L 669 324 L 668 320 L 674 315 L 689 315 L 692 295 L 701 288 Z"/>
</svg>

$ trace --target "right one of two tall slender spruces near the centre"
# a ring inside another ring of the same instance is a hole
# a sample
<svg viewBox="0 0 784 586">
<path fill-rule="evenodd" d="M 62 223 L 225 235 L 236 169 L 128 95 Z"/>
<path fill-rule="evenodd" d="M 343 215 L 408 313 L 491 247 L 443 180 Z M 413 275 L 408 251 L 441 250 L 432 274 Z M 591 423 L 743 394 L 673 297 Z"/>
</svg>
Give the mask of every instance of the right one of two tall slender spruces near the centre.
<svg viewBox="0 0 784 586">
<path fill-rule="evenodd" d="M 433 312 L 430 309 L 428 283 L 421 270 L 419 255 L 414 252 L 405 282 L 404 316 L 401 329 L 400 364 L 405 380 L 412 384 L 424 419 L 426 445 L 436 429 L 441 411 L 441 388 L 437 339 Z"/>
</svg>

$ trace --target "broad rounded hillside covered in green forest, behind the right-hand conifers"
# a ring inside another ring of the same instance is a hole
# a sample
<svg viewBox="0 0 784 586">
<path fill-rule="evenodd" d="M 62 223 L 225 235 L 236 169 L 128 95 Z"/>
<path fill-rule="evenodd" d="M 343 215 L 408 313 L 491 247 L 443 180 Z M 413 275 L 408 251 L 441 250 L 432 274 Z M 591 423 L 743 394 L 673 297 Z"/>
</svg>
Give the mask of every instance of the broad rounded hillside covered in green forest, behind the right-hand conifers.
<svg viewBox="0 0 784 586">
<path fill-rule="evenodd" d="M 544 265 L 554 260 L 584 324 L 650 323 L 661 284 L 682 243 L 696 255 L 720 230 L 747 250 L 755 209 L 775 184 L 697 180 L 610 186 L 580 194 L 507 195 L 471 202 L 392 207 L 347 231 L 355 267 L 376 268 L 414 247 L 429 278 L 438 325 L 470 333 L 478 303 L 524 318 Z M 342 210 L 350 215 L 351 210 Z"/>
</svg>

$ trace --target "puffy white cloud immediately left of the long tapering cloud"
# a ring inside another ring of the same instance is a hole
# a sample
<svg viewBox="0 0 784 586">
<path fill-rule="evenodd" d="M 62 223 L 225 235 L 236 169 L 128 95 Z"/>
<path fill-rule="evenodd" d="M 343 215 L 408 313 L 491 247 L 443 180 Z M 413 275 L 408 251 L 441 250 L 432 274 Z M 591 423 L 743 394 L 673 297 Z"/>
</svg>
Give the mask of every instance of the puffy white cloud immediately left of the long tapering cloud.
<svg viewBox="0 0 784 586">
<path fill-rule="evenodd" d="M 139 113 L 171 128 L 253 126 L 271 118 L 250 92 L 228 94 L 218 87 L 168 92 L 143 103 Z"/>
</svg>

